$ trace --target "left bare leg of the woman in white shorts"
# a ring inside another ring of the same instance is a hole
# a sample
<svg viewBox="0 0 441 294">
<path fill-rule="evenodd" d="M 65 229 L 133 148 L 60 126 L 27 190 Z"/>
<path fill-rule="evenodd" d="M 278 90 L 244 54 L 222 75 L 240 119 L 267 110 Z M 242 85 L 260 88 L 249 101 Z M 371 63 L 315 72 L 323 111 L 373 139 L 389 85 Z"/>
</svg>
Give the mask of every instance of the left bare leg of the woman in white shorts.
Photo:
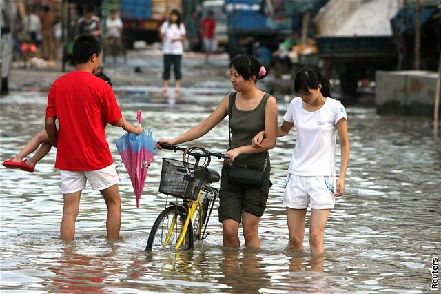
<svg viewBox="0 0 441 294">
<path fill-rule="evenodd" d="M 289 245 L 296 250 L 303 250 L 303 237 L 305 237 L 306 209 L 287 207 L 287 222 L 289 231 Z"/>
</svg>

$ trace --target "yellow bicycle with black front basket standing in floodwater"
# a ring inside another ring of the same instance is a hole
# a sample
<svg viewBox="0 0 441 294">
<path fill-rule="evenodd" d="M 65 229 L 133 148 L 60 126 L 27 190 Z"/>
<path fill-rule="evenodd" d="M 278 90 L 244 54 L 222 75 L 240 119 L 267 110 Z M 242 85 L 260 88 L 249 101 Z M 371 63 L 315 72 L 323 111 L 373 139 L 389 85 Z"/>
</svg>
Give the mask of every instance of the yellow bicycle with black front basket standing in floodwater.
<svg viewBox="0 0 441 294">
<path fill-rule="evenodd" d="M 211 157 L 227 158 L 201 147 L 183 148 L 160 144 L 166 150 L 183 151 L 183 160 L 163 158 L 159 192 L 182 199 L 170 202 L 156 218 L 147 240 L 146 251 L 192 249 L 194 240 L 203 240 L 219 189 L 210 186 L 220 175 L 207 166 Z M 194 163 L 190 159 L 194 157 Z M 201 159 L 203 163 L 201 164 Z M 205 195 L 203 195 L 205 193 Z M 166 204 L 167 205 L 167 204 Z"/>
</svg>

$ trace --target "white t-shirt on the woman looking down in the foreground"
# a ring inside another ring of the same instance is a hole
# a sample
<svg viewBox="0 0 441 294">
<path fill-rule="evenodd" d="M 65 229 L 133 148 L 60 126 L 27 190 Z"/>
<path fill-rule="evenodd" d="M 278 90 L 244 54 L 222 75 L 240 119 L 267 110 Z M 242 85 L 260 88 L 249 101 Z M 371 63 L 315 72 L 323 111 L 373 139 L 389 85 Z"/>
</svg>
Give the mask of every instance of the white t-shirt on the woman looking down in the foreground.
<svg viewBox="0 0 441 294">
<path fill-rule="evenodd" d="M 346 119 L 340 101 L 327 98 L 314 112 L 305 110 L 302 99 L 296 97 L 289 104 L 283 119 L 294 123 L 297 130 L 296 147 L 289 164 L 289 173 L 300 176 L 335 176 L 337 144 L 336 124 Z"/>
</svg>

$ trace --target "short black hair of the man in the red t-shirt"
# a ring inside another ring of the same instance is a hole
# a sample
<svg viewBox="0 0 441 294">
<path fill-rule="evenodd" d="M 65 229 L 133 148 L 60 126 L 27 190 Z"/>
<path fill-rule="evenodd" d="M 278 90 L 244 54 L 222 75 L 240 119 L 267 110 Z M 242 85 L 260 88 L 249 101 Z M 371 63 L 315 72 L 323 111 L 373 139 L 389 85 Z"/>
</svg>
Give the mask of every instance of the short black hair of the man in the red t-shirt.
<svg viewBox="0 0 441 294">
<path fill-rule="evenodd" d="M 95 36 L 79 35 L 74 42 L 73 57 L 76 64 L 87 63 L 92 55 L 101 53 L 101 40 Z"/>
</svg>

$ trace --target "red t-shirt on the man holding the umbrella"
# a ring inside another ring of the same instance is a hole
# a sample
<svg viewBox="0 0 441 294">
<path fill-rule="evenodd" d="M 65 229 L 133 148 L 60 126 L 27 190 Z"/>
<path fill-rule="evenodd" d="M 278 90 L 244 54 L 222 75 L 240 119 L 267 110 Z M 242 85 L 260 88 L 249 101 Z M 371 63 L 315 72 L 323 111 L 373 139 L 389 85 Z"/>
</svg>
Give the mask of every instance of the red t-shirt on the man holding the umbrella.
<svg viewBox="0 0 441 294">
<path fill-rule="evenodd" d="M 99 170 L 113 163 L 105 126 L 121 119 L 112 88 L 90 72 L 69 72 L 54 81 L 46 117 L 59 121 L 55 168 Z"/>
</svg>

